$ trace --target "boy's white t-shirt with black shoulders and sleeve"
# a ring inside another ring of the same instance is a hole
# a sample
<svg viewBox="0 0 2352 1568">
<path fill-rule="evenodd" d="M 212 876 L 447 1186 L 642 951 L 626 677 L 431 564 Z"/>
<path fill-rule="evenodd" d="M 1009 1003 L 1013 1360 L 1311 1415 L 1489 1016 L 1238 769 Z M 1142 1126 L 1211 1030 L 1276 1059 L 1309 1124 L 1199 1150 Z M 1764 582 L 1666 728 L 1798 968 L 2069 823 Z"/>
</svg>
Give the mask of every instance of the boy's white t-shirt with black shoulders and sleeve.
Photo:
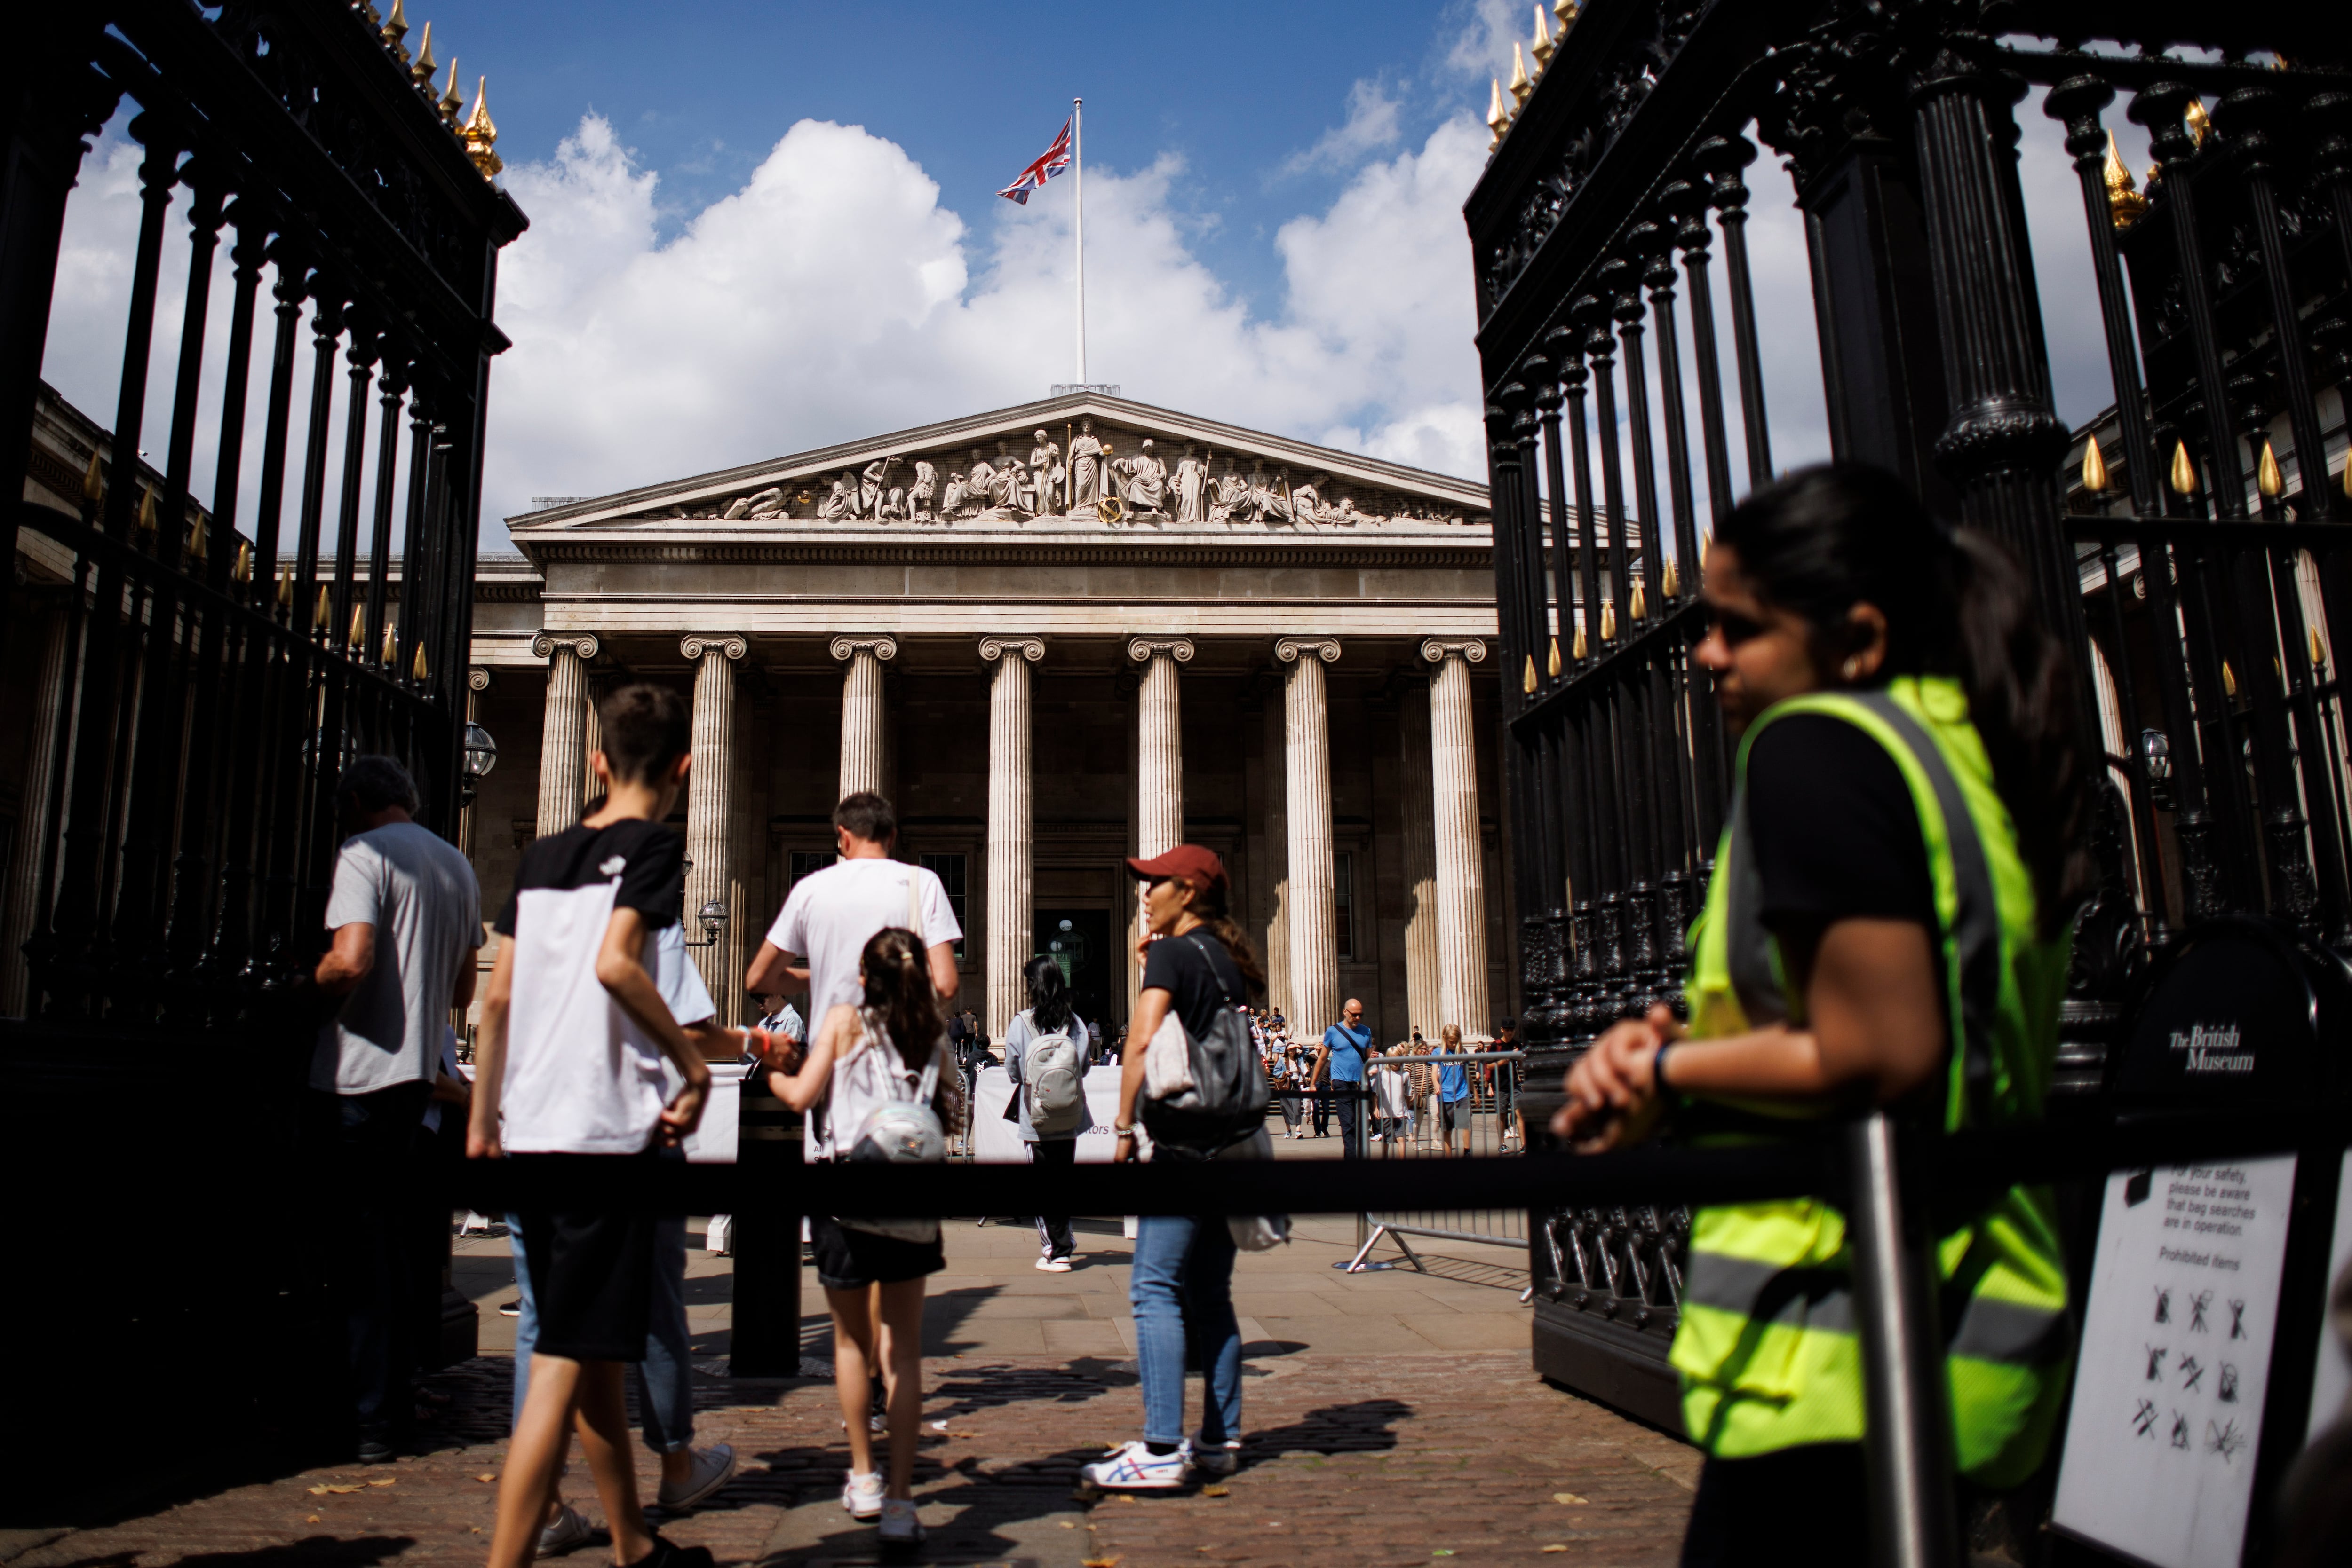
<svg viewBox="0 0 2352 1568">
<path fill-rule="evenodd" d="M 567 827 L 522 851 L 494 922 L 515 943 L 499 1140 L 510 1154 L 637 1154 L 663 1107 L 661 1046 L 595 978 L 614 910 L 656 931 L 677 924 L 684 842 L 661 823 Z"/>
</svg>

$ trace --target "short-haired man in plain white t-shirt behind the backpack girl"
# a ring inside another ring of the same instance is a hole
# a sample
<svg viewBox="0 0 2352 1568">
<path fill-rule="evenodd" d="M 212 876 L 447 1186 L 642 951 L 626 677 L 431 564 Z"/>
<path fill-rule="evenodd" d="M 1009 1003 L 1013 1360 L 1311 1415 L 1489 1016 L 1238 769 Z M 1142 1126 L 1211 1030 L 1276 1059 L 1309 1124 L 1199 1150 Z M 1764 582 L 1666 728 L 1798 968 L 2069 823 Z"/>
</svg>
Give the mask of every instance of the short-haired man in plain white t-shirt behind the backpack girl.
<svg viewBox="0 0 2352 1568">
<path fill-rule="evenodd" d="M 809 983 L 809 1018 L 835 1004 L 858 1006 L 858 954 L 875 931 L 915 931 L 931 957 L 931 990 L 955 997 L 955 943 L 964 929 L 948 907 L 948 889 L 920 865 L 891 860 L 898 813 L 873 790 L 842 797 L 833 809 L 840 860 L 793 884 L 760 954 L 743 976 L 755 997 L 793 990 L 786 976 Z"/>
</svg>

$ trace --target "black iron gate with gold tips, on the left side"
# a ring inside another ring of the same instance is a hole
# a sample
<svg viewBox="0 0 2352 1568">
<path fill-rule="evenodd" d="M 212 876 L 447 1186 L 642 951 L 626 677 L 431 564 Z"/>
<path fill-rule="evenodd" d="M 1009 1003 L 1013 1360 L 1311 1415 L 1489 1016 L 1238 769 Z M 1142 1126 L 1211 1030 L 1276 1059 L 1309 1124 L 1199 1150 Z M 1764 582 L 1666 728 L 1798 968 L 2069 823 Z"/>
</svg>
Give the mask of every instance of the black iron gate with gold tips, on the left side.
<svg viewBox="0 0 2352 1568">
<path fill-rule="evenodd" d="M 405 33 L 341 0 L 111 0 L 14 24 L 0 172 L 12 487 L 42 397 L 66 195 L 108 120 L 127 118 L 143 153 L 113 428 L 92 440 L 78 508 L 12 496 L 0 522 L 12 559 L 24 538 L 28 557 L 64 562 L 47 597 L 19 585 L 5 609 L 19 625 L 0 628 L 14 649 L 49 649 L 0 672 L 33 689 L 35 715 L 9 870 L 28 969 L 21 1018 L 0 1020 L 19 1173 L 9 1309 L 28 1352 L 7 1422 L 52 1434 L 28 1460 L 71 1462 L 78 1425 L 120 1434 L 132 1401 L 212 1439 L 287 1413 L 334 1366 L 306 1354 L 332 1349 L 313 1345 L 318 1194 L 285 1161 L 318 1023 L 306 983 L 332 790 L 348 757 L 388 752 L 423 790 L 421 820 L 456 830 L 485 390 L 506 346 L 496 254 L 522 230 L 487 179 L 480 96 L 461 115 L 454 71 L 433 80 L 430 49 L 412 56 L 423 40 Z M 153 364 L 174 244 L 188 254 L 181 353 Z M 143 416 L 165 386 L 155 430 Z M 214 451 L 198 451 L 200 400 L 219 411 Z M 141 463 L 141 447 L 160 458 Z M 249 512 L 240 494 L 256 496 Z"/>
</svg>

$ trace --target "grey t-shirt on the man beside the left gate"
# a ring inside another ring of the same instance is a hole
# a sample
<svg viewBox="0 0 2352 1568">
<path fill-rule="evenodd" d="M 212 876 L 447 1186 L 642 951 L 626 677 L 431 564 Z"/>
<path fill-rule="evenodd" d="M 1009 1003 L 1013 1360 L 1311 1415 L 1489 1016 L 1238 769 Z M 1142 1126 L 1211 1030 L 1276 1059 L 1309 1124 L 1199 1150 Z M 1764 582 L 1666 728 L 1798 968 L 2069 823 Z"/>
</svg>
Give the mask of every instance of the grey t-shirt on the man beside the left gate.
<svg viewBox="0 0 2352 1568">
<path fill-rule="evenodd" d="M 473 865 L 416 823 L 386 823 L 343 842 L 327 893 L 327 929 L 376 929 L 376 964 L 320 1025 L 310 1088 L 365 1095 L 433 1081 L 449 987 L 482 945 Z"/>
</svg>

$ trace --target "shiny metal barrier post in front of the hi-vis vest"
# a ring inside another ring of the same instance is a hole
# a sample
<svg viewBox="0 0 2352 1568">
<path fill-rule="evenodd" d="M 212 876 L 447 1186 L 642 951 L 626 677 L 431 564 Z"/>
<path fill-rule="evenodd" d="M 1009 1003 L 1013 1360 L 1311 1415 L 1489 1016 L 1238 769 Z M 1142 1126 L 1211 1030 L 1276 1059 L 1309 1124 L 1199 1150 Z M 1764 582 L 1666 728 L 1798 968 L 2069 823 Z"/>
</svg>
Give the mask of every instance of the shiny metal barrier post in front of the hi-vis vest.
<svg viewBox="0 0 2352 1568">
<path fill-rule="evenodd" d="M 1936 1239 L 1924 1192 L 1907 1194 L 1886 1112 L 1846 1128 L 1846 1244 L 1863 1338 L 1870 1469 L 1870 1561 L 1882 1568 L 1959 1568 L 1952 1505 L 1952 1418 L 1936 1326 Z"/>
</svg>

